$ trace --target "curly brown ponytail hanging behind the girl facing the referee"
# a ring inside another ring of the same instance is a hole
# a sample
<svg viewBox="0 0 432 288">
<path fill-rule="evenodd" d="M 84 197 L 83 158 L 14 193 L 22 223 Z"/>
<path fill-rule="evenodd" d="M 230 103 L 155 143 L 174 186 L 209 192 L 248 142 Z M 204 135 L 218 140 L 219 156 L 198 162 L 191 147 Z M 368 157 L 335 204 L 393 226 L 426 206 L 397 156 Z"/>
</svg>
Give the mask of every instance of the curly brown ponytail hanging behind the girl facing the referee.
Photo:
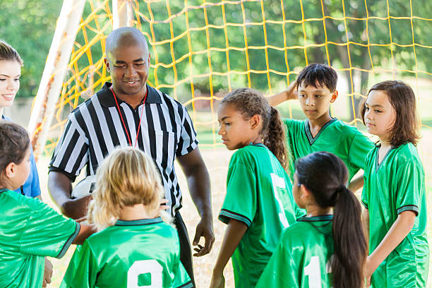
<svg viewBox="0 0 432 288">
<path fill-rule="evenodd" d="M 270 120 L 263 136 L 263 143 L 279 160 L 285 171 L 288 172 L 287 143 L 285 130 L 277 109 L 270 107 Z"/>
</svg>

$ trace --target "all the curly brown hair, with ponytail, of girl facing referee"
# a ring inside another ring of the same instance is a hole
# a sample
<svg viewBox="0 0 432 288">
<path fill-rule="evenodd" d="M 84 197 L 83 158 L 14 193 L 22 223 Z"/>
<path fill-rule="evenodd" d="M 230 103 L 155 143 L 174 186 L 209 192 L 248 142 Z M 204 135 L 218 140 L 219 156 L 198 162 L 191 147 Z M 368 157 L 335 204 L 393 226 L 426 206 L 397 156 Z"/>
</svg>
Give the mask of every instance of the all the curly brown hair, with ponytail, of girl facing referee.
<svg viewBox="0 0 432 288">
<path fill-rule="evenodd" d="M 260 131 L 263 143 L 277 157 L 280 164 L 288 172 L 287 146 L 285 132 L 277 109 L 270 107 L 265 97 L 257 90 L 240 88 L 224 97 L 222 103 L 234 105 L 237 111 L 246 119 L 253 115 L 260 115 L 263 119 L 263 130 Z"/>
</svg>

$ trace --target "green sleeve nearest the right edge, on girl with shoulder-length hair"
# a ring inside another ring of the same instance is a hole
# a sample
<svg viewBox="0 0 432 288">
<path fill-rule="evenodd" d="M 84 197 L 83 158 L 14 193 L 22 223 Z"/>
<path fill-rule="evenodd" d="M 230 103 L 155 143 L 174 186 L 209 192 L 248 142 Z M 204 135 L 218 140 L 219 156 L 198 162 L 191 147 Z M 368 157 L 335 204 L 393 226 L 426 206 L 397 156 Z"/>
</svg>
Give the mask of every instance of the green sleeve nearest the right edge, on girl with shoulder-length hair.
<svg viewBox="0 0 432 288">
<path fill-rule="evenodd" d="M 397 181 L 393 181 L 397 191 L 397 214 L 413 211 L 419 215 L 421 187 L 424 181 L 421 167 L 414 162 L 404 163 L 403 169 L 397 169 Z"/>
</svg>

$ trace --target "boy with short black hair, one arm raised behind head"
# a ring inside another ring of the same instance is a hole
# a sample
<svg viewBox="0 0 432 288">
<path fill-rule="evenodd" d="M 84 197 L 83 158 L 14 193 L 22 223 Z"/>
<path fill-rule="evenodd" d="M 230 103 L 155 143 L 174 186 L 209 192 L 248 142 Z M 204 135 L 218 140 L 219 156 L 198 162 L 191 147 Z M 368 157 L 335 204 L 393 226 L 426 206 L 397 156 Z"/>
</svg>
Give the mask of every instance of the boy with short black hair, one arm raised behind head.
<svg viewBox="0 0 432 288">
<path fill-rule="evenodd" d="M 298 99 L 308 119 L 283 119 L 287 127 L 287 146 L 290 176 L 294 174 L 294 161 L 312 152 L 332 152 L 342 159 L 349 171 L 349 188 L 356 191 L 363 186 L 363 176 L 352 181 L 364 169 L 366 154 L 373 143 L 356 127 L 344 124 L 330 116 L 330 103 L 337 99 L 337 73 L 328 65 L 311 64 L 300 71 L 289 88 L 268 98 L 272 106 Z"/>
</svg>

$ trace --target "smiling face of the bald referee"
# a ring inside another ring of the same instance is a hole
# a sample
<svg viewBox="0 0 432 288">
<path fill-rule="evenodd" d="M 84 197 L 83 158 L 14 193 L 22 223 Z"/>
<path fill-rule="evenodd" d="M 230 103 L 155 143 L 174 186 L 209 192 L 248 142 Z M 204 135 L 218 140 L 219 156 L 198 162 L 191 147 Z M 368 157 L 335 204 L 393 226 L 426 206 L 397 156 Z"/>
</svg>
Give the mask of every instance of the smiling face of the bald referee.
<svg viewBox="0 0 432 288">
<path fill-rule="evenodd" d="M 105 63 L 116 95 L 126 102 L 141 100 L 147 89 L 145 83 L 150 66 L 148 48 L 142 44 L 123 45 L 109 52 L 107 58 Z"/>
</svg>

